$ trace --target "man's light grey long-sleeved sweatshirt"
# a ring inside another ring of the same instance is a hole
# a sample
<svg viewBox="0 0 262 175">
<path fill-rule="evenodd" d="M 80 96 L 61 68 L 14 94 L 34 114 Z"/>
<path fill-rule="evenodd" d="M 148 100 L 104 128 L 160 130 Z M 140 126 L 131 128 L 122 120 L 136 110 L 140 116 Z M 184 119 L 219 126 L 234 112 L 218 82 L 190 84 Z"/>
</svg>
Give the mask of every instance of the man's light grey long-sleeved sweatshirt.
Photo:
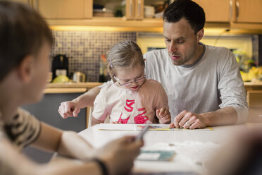
<svg viewBox="0 0 262 175">
<path fill-rule="evenodd" d="M 233 107 L 237 123 L 243 123 L 248 116 L 246 91 L 234 54 L 224 47 L 204 47 L 204 54 L 189 66 L 173 65 L 167 49 L 147 52 L 146 78 L 162 83 L 172 121 L 182 110 L 200 114 Z"/>
</svg>

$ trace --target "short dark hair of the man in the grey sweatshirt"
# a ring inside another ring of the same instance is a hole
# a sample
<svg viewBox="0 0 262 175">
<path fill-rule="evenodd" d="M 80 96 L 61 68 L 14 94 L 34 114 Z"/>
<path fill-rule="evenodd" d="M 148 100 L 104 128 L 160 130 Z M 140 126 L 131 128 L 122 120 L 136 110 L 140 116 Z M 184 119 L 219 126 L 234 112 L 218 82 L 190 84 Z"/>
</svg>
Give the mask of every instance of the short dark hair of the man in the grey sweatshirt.
<svg viewBox="0 0 262 175">
<path fill-rule="evenodd" d="M 168 23 L 177 23 L 182 18 L 188 20 L 195 33 L 204 28 L 206 22 L 203 8 L 191 0 L 176 0 L 163 13 L 163 21 Z"/>
</svg>

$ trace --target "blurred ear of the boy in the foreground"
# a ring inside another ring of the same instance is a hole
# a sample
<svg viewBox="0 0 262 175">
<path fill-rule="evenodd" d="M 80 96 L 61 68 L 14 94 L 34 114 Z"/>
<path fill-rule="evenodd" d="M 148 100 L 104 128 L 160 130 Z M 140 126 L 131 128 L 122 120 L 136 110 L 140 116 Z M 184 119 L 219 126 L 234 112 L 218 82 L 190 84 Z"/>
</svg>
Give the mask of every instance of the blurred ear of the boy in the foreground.
<svg viewBox="0 0 262 175">
<path fill-rule="evenodd" d="M 18 77 L 27 83 L 32 78 L 35 59 L 32 55 L 25 56 L 18 66 Z"/>
</svg>

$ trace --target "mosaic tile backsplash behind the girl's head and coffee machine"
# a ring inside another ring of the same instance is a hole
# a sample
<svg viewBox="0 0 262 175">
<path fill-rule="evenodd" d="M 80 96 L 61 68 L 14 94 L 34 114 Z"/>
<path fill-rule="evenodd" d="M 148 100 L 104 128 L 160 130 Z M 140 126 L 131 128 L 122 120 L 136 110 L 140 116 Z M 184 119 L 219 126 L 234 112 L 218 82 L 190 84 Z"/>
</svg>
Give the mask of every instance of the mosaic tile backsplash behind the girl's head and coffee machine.
<svg viewBox="0 0 262 175">
<path fill-rule="evenodd" d="M 52 31 L 55 39 L 51 57 L 66 54 L 69 75 L 85 73 L 88 82 L 99 80 L 99 61 L 113 44 L 121 40 L 136 41 L 136 32 Z"/>
</svg>

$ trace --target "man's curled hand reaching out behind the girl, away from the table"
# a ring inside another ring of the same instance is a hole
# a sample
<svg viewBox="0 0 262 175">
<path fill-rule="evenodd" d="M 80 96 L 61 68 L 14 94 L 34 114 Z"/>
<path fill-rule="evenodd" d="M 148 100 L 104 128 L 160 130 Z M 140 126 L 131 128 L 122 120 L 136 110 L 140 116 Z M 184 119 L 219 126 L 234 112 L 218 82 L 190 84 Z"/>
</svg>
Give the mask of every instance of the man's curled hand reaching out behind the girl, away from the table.
<svg viewBox="0 0 262 175">
<path fill-rule="evenodd" d="M 78 107 L 74 101 L 61 102 L 58 112 L 63 119 L 70 116 L 77 117 L 77 114 L 80 112 L 80 107 Z"/>
</svg>

